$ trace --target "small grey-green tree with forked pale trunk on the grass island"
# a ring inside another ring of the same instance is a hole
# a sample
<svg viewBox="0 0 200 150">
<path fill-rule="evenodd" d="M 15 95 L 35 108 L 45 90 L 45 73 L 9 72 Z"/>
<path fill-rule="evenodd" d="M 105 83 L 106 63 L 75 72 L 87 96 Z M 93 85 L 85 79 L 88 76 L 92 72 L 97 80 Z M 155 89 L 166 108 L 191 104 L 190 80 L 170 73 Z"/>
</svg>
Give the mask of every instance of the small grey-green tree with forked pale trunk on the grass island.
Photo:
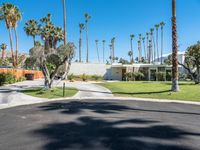
<svg viewBox="0 0 200 150">
<path fill-rule="evenodd" d="M 74 50 L 73 43 L 68 43 L 66 46 L 61 45 L 57 49 L 35 46 L 30 50 L 31 58 L 36 61 L 44 74 L 46 87 L 52 88 L 54 78 L 58 74 L 60 74 L 61 79 L 66 78 L 71 60 L 74 57 Z M 66 62 L 68 62 L 68 67 L 65 66 Z"/>
</svg>

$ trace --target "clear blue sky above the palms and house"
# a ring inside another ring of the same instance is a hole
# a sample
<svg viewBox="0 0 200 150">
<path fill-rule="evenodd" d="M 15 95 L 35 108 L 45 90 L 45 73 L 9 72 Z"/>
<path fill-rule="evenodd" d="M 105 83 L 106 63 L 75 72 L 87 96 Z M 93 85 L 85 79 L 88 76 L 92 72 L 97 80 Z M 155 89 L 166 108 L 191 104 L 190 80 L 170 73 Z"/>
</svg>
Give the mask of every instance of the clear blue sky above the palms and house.
<svg viewBox="0 0 200 150">
<path fill-rule="evenodd" d="M 53 16 L 55 25 L 62 26 L 61 0 L 0 0 L 17 5 L 23 13 L 19 23 L 19 48 L 27 52 L 33 45 L 31 37 L 23 31 L 24 24 L 29 19 L 40 19 L 47 13 Z M 90 61 L 97 60 L 95 40 L 106 43 L 106 56 L 109 57 L 110 40 L 116 37 L 116 55 L 128 59 L 130 50 L 130 34 L 145 34 L 155 24 L 164 21 L 164 50 L 171 51 L 171 0 L 66 0 L 67 2 L 67 32 L 68 40 L 77 46 L 79 23 L 84 23 L 84 13 L 88 12 L 92 19 L 89 21 L 89 50 Z M 177 22 L 180 51 L 200 40 L 200 0 L 177 0 Z M 39 39 L 38 39 L 39 40 Z M 137 40 L 134 41 L 134 51 L 137 54 Z M 8 43 L 9 37 L 4 22 L 0 22 L 0 43 Z M 86 56 L 85 33 L 83 34 L 83 59 Z M 76 56 L 76 58 L 78 58 Z"/>
</svg>

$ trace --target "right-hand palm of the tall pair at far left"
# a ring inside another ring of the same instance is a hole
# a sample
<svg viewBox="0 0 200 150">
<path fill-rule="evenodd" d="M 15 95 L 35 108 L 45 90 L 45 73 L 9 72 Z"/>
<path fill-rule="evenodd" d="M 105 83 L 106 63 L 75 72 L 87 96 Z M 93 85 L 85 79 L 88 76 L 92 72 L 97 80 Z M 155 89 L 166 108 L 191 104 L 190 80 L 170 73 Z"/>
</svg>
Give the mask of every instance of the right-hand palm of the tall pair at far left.
<svg viewBox="0 0 200 150">
<path fill-rule="evenodd" d="M 14 29 L 15 32 L 15 39 L 16 39 L 16 56 L 15 56 L 15 65 L 18 66 L 18 34 L 17 34 L 17 25 L 18 22 L 21 20 L 22 18 L 22 14 L 20 12 L 20 10 L 15 6 L 15 15 L 13 16 L 12 19 L 12 28 Z"/>
</svg>

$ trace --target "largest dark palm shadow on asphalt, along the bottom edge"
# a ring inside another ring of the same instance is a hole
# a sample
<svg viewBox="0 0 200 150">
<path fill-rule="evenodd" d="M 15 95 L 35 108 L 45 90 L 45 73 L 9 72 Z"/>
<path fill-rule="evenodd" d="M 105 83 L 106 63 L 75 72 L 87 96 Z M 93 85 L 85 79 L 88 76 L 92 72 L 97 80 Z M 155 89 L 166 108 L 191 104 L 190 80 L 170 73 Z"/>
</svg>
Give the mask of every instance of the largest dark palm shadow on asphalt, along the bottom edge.
<svg viewBox="0 0 200 150">
<path fill-rule="evenodd" d="M 31 134 L 48 139 L 45 150 L 193 150 L 176 140 L 200 136 L 199 133 L 155 122 L 79 117 L 74 122 L 48 124 Z"/>
</svg>

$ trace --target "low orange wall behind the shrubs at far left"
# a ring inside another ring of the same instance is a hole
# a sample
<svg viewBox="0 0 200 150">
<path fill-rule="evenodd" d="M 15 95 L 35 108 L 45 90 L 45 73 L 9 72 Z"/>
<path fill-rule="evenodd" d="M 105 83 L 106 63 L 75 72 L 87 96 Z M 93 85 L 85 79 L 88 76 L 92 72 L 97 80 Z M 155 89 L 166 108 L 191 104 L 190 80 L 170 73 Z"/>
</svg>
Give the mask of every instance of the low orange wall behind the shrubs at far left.
<svg viewBox="0 0 200 150">
<path fill-rule="evenodd" d="M 11 68 L 0 68 L 0 73 L 12 73 L 16 78 L 25 77 L 25 74 L 32 73 L 34 74 L 34 79 L 43 78 L 42 71 L 36 70 L 20 70 L 20 69 L 11 69 Z"/>
</svg>

